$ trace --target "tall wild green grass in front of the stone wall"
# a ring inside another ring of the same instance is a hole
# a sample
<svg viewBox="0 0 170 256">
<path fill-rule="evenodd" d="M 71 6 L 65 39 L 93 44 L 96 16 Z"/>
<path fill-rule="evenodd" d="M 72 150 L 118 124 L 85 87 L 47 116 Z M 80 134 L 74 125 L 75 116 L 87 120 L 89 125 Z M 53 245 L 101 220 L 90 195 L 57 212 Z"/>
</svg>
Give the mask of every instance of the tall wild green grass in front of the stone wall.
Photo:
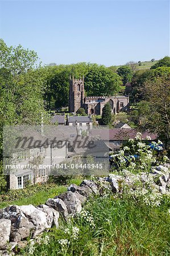
<svg viewBox="0 0 170 256">
<path fill-rule="evenodd" d="M 93 199 L 85 205 L 85 209 L 93 214 L 94 229 L 88 220 L 80 216 L 71 222 L 63 222 L 63 228 L 53 228 L 43 234 L 49 237 L 49 244 L 42 242 L 42 245 L 35 245 L 34 255 L 168 256 L 169 207 L 166 200 L 160 208 L 156 208 L 113 196 Z M 73 226 L 79 229 L 76 240 L 73 234 L 63 231 L 64 228 L 72 230 Z M 67 239 L 68 245 L 61 246 L 61 239 Z M 28 251 L 25 250 L 22 255 L 29 255 Z"/>
</svg>

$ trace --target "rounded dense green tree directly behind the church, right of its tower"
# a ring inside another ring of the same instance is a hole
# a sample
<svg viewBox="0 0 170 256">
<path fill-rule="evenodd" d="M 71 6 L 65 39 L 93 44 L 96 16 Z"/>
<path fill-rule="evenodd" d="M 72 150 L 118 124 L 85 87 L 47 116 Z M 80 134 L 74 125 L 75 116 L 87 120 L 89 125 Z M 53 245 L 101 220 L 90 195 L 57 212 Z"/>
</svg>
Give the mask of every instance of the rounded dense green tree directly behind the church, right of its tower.
<svg viewBox="0 0 170 256">
<path fill-rule="evenodd" d="M 121 77 L 105 66 L 90 68 L 85 76 L 85 90 L 88 96 L 109 96 L 119 91 Z"/>
</svg>

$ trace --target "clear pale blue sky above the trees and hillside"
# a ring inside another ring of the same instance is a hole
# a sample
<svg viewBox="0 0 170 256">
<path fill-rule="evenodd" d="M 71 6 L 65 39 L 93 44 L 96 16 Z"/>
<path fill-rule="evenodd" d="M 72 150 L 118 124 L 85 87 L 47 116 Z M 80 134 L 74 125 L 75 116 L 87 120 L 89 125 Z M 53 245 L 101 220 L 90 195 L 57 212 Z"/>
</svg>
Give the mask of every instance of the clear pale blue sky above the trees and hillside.
<svg viewBox="0 0 170 256">
<path fill-rule="evenodd" d="M 169 55 L 169 1 L 0 0 L 0 38 L 43 64 L 157 60 Z"/>
</svg>

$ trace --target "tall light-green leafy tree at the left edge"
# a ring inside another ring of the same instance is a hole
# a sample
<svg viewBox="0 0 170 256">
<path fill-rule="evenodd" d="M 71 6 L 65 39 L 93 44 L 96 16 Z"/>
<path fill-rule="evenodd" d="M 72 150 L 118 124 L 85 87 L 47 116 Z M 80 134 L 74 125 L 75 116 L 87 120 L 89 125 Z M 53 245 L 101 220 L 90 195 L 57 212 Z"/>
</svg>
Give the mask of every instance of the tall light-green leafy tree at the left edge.
<svg viewBox="0 0 170 256">
<path fill-rule="evenodd" d="M 7 47 L 0 39 L 0 160 L 2 161 L 3 125 L 39 124 L 46 120 L 43 93 L 45 68 L 34 51 L 22 46 Z M 5 179 L 0 166 L 0 188 Z"/>
</svg>

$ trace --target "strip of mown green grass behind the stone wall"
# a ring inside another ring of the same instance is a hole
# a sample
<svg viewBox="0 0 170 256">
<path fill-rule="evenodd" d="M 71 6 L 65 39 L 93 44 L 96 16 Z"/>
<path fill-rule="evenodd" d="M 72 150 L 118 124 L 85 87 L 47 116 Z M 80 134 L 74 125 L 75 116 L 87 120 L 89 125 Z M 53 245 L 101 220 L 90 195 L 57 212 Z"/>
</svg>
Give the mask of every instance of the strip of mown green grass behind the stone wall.
<svg viewBox="0 0 170 256">
<path fill-rule="evenodd" d="M 81 181 L 82 181 L 81 177 L 75 178 L 75 179 L 69 180 L 69 184 L 74 183 L 76 185 L 79 185 L 81 183 Z M 0 208 L 4 208 L 4 207 L 7 207 L 7 206 L 13 205 L 13 204 L 16 204 L 16 205 L 45 204 L 47 199 L 53 198 L 53 197 L 59 195 L 60 193 L 67 191 L 67 187 L 68 187 L 68 185 L 56 185 L 56 187 L 54 187 L 54 188 L 50 188 L 50 189 L 47 189 L 44 191 L 37 192 L 32 196 L 23 197 L 22 199 L 19 199 L 19 200 L 0 202 Z"/>
</svg>

